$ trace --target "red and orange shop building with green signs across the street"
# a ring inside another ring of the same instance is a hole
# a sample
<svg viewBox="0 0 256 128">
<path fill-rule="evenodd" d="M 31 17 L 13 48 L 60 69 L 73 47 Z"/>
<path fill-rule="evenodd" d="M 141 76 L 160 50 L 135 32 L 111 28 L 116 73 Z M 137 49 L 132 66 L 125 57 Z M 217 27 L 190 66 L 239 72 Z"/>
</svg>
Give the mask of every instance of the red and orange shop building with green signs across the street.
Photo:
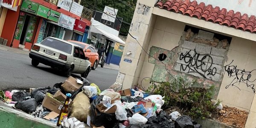
<svg viewBox="0 0 256 128">
<path fill-rule="evenodd" d="M 72 0 L 23 0 L 17 11 L 7 9 L 0 37 L 9 47 L 25 49 L 49 36 L 81 41 L 90 26 L 90 20 L 81 17 L 83 10 Z"/>
</svg>

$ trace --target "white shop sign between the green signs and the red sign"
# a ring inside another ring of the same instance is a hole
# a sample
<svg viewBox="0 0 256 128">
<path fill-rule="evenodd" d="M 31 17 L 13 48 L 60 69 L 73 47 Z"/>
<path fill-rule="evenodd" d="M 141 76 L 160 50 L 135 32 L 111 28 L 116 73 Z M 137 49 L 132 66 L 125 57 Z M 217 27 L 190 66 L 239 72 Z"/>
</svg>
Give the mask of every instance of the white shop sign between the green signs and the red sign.
<svg viewBox="0 0 256 128">
<path fill-rule="evenodd" d="M 64 15 L 64 14 L 61 13 L 59 21 L 58 21 L 59 26 L 62 26 L 66 29 L 73 30 L 74 24 L 75 24 L 75 19 L 74 18 L 69 17 L 69 16 Z"/>
</svg>

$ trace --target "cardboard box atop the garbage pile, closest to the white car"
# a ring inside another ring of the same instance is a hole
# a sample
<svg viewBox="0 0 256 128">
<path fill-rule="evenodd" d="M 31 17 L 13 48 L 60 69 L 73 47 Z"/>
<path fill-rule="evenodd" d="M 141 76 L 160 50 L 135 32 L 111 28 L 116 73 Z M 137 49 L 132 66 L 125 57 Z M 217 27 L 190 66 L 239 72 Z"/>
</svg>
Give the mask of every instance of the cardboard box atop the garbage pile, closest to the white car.
<svg viewBox="0 0 256 128">
<path fill-rule="evenodd" d="M 77 79 L 70 76 L 62 85 L 61 87 L 66 92 L 73 92 L 79 90 L 80 87 L 82 87 L 82 84 L 77 83 Z"/>
</svg>

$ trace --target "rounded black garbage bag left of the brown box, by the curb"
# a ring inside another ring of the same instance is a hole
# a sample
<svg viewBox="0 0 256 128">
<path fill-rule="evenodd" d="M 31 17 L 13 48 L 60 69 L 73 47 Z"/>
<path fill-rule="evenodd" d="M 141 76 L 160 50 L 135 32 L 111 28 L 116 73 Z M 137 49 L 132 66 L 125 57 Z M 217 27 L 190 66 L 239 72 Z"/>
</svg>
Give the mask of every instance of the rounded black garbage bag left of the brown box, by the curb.
<svg viewBox="0 0 256 128">
<path fill-rule="evenodd" d="M 15 108 L 24 111 L 25 113 L 32 113 L 36 111 L 37 102 L 34 98 L 26 98 L 24 101 L 17 102 Z"/>
</svg>

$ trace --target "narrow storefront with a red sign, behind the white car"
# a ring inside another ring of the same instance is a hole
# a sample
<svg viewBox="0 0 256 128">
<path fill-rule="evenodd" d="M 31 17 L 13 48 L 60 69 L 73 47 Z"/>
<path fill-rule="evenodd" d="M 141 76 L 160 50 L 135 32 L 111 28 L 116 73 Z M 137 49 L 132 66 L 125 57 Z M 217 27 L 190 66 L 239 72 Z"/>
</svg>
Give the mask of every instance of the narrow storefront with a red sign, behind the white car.
<svg viewBox="0 0 256 128">
<path fill-rule="evenodd" d="M 82 41 L 85 27 L 86 23 L 84 21 L 76 19 L 71 40 Z"/>
</svg>

